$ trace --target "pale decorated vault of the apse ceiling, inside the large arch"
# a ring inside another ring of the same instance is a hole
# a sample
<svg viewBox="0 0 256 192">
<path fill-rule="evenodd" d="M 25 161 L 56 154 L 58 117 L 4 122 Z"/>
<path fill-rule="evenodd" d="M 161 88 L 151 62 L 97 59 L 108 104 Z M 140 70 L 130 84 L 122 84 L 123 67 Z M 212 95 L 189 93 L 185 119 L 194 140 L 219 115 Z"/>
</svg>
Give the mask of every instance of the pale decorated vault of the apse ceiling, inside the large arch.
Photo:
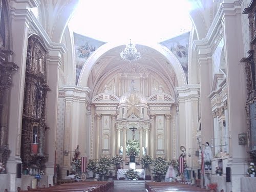
<svg viewBox="0 0 256 192">
<path fill-rule="evenodd" d="M 98 83 L 103 81 L 102 78 L 106 78 L 106 74 L 113 76 L 114 74 L 120 74 L 124 71 L 126 73 L 132 73 L 133 66 L 144 68 L 143 73 L 145 74 L 154 73 L 156 76 L 159 76 L 170 90 L 174 90 L 174 88 L 178 86 L 178 79 L 173 68 L 173 63 L 170 63 L 162 53 L 147 46 L 136 45 L 137 51 L 140 52 L 142 56 L 138 61 L 129 63 L 120 57 L 120 53 L 124 48 L 124 45 L 114 47 L 103 53 L 95 61 L 87 82 L 87 86 L 92 90 L 93 95 L 99 94 L 98 89 L 101 88 Z M 175 63 L 175 65 L 180 65 L 180 63 Z"/>
</svg>

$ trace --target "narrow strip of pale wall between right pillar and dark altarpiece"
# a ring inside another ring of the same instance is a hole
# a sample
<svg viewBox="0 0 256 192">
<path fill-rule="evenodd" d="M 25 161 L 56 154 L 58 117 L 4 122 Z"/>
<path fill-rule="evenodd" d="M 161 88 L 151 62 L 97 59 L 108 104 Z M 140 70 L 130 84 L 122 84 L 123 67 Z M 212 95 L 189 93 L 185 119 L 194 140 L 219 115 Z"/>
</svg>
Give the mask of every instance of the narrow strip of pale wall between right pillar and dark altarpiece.
<svg viewBox="0 0 256 192">
<path fill-rule="evenodd" d="M 241 5 L 241 11 L 247 8 L 251 0 L 244 0 Z M 250 50 L 250 31 L 249 31 L 249 19 L 248 14 L 242 14 L 242 32 L 243 32 L 243 42 L 244 42 L 244 57 L 248 56 L 248 51 Z"/>
</svg>

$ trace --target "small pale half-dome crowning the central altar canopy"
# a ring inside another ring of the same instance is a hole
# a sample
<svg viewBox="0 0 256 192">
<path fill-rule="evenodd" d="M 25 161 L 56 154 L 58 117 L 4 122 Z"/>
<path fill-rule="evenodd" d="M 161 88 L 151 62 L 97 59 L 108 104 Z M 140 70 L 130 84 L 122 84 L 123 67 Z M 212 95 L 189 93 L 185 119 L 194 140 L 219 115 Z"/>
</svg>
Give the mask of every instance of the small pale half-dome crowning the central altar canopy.
<svg viewBox="0 0 256 192">
<path fill-rule="evenodd" d="M 133 105 L 137 104 L 147 104 L 146 97 L 139 91 L 131 90 L 121 97 L 120 104 L 129 103 Z"/>
</svg>

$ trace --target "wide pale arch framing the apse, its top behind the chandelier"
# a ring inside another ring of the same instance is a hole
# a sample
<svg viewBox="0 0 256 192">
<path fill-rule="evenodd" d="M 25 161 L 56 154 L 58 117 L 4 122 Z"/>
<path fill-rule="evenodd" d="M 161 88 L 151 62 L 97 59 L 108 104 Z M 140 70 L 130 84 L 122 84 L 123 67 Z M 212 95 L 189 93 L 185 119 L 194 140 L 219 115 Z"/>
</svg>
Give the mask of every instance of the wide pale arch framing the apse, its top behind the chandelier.
<svg viewBox="0 0 256 192">
<path fill-rule="evenodd" d="M 78 79 L 78 86 L 81 87 L 87 87 L 88 78 L 91 73 L 91 70 L 93 69 L 93 66 L 95 65 L 96 61 L 107 51 L 110 51 L 111 49 L 125 45 L 125 44 L 111 44 L 106 43 L 100 48 L 98 48 L 84 63 L 83 68 L 81 70 L 79 79 Z M 143 45 L 143 44 L 140 44 Z M 177 75 L 177 81 L 179 86 L 185 86 L 186 85 L 186 77 L 185 73 L 182 69 L 182 66 L 179 62 L 179 60 L 174 56 L 170 50 L 168 50 L 166 47 L 160 45 L 160 44 L 144 44 L 143 46 L 150 47 L 152 49 L 155 49 L 159 53 L 161 53 L 170 63 L 172 63 L 174 71 Z"/>
</svg>

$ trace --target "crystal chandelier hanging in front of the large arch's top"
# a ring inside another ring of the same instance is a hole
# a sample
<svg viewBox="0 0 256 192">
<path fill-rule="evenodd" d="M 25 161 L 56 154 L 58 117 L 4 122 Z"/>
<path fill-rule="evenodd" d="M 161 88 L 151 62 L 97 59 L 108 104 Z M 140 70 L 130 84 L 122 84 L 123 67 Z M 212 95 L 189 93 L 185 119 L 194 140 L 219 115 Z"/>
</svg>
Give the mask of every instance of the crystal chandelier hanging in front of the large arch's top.
<svg viewBox="0 0 256 192">
<path fill-rule="evenodd" d="M 120 53 L 120 57 L 122 57 L 125 61 L 136 61 L 141 57 L 140 52 L 135 48 L 135 44 L 132 43 L 130 39 L 130 43 L 126 45 L 125 49 Z"/>
</svg>

